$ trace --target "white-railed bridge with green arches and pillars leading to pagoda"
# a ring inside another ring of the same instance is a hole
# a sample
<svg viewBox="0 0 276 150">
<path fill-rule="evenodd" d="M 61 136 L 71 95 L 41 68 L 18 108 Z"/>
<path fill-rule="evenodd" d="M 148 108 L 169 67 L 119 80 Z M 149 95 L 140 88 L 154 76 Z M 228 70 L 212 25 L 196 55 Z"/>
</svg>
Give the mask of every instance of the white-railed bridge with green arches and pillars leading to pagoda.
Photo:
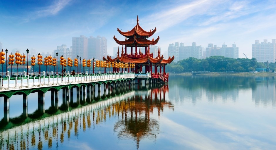
<svg viewBox="0 0 276 150">
<path fill-rule="evenodd" d="M 9 73 L 9 72 L 8 72 Z M 68 73 L 69 74 L 69 73 Z M 45 112 L 45 93 L 51 91 L 53 108 L 58 109 L 56 104 L 58 99 L 58 91 L 62 89 L 63 97 L 73 97 L 73 88 L 76 88 L 76 95 L 80 96 L 83 92 L 95 93 L 96 90 L 100 92 L 101 85 L 103 85 L 104 92 L 108 88 L 125 88 L 129 85 L 133 85 L 133 80 L 138 80 L 139 84 L 142 84 L 142 80 L 145 80 L 145 85 L 151 83 L 151 74 L 146 73 L 105 73 L 105 74 L 93 74 L 88 75 L 64 75 L 64 76 L 45 76 L 44 73 L 41 77 L 15 77 L 10 78 L 9 74 L 7 78 L 3 80 L 1 78 L 0 96 L 4 96 L 4 122 L 9 122 L 9 98 L 14 94 L 23 95 L 23 116 L 28 116 L 28 95 L 37 92 L 38 94 L 38 111 Z M 98 86 L 96 86 L 98 85 Z M 69 92 L 70 91 L 70 92 Z M 90 94 L 88 94 L 90 95 Z M 54 99 L 56 99 L 54 101 Z M 66 99 L 66 98 L 65 98 Z M 66 101 L 66 100 L 63 100 Z M 66 102 L 65 102 L 66 104 Z"/>
</svg>

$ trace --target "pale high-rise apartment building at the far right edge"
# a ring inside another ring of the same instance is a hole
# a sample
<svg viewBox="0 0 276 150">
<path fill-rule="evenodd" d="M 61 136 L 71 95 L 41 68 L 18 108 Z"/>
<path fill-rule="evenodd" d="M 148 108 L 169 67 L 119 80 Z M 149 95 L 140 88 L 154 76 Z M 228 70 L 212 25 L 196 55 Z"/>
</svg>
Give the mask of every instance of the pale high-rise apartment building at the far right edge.
<svg viewBox="0 0 276 150">
<path fill-rule="evenodd" d="M 276 39 L 272 39 L 272 42 L 260 43 L 260 40 L 255 40 L 255 44 L 252 44 L 252 58 L 256 58 L 258 62 L 274 62 L 276 59 Z"/>
</svg>

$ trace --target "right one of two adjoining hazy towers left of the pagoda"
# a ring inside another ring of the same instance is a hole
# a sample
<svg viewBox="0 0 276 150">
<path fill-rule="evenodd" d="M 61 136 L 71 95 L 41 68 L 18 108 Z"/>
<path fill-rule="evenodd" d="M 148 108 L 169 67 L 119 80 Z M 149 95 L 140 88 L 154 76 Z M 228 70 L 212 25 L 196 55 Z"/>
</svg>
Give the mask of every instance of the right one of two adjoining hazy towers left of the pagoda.
<svg viewBox="0 0 276 150">
<path fill-rule="evenodd" d="M 102 59 L 103 56 L 107 56 L 107 39 L 101 36 L 90 36 L 88 39 L 87 59 L 92 59 L 93 57 L 95 59 Z"/>
</svg>

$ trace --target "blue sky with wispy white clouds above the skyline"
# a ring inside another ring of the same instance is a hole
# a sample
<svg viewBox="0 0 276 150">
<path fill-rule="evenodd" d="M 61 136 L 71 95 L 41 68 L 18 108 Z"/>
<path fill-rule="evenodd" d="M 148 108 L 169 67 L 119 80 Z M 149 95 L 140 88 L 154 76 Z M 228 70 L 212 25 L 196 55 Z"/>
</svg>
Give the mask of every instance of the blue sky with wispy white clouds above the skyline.
<svg viewBox="0 0 276 150">
<path fill-rule="evenodd" d="M 72 46 L 72 37 L 97 35 L 107 38 L 107 52 L 119 46 L 117 32 L 139 25 L 157 28 L 157 46 L 162 52 L 174 42 L 207 47 L 208 43 L 228 47 L 235 42 L 239 57 L 251 58 L 255 39 L 276 39 L 276 1 L 159 0 L 159 1 L 80 1 L 3 0 L 0 1 L 0 42 L 3 49 L 53 51 Z M 150 38 L 151 39 L 151 38 Z"/>
</svg>

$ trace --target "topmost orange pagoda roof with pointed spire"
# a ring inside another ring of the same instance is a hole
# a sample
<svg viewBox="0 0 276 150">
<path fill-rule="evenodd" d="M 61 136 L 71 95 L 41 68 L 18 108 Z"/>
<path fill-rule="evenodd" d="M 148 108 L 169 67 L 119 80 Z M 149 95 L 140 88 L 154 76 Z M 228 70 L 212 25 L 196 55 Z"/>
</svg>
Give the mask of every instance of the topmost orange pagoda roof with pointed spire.
<svg viewBox="0 0 276 150">
<path fill-rule="evenodd" d="M 156 32 L 156 28 L 154 30 L 150 30 L 149 32 L 145 31 L 142 27 L 140 27 L 138 15 L 137 15 L 137 25 L 132 30 L 127 32 L 122 32 L 119 28 L 117 28 L 117 31 L 125 37 L 131 37 L 131 36 L 134 36 L 135 34 L 139 36 L 150 37 Z"/>
</svg>

